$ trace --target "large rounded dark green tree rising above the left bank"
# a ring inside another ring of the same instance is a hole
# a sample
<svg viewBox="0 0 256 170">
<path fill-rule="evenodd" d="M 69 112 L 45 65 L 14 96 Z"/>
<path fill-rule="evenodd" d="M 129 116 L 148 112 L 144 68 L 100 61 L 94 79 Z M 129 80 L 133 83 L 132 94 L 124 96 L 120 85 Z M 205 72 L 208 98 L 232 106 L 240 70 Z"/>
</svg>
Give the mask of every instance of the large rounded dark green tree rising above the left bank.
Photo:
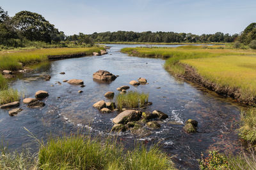
<svg viewBox="0 0 256 170">
<path fill-rule="evenodd" d="M 31 41 L 51 42 L 51 35 L 58 32 L 42 15 L 30 11 L 16 13 L 12 22 L 20 34 Z"/>
</svg>

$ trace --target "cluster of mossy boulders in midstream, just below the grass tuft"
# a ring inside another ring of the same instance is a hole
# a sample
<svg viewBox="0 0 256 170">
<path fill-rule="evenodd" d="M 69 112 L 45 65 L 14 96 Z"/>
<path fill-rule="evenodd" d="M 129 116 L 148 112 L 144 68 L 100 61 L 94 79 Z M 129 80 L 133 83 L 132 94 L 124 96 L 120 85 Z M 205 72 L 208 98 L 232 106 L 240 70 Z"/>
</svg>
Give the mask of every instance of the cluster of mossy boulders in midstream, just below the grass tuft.
<svg viewBox="0 0 256 170">
<path fill-rule="evenodd" d="M 111 131 L 134 131 L 145 125 L 151 129 L 157 129 L 161 125 L 156 120 L 164 120 L 166 118 L 168 118 L 168 115 L 159 110 L 154 110 L 152 113 L 150 111 L 125 110 L 113 118 L 115 125 L 113 125 Z"/>
</svg>

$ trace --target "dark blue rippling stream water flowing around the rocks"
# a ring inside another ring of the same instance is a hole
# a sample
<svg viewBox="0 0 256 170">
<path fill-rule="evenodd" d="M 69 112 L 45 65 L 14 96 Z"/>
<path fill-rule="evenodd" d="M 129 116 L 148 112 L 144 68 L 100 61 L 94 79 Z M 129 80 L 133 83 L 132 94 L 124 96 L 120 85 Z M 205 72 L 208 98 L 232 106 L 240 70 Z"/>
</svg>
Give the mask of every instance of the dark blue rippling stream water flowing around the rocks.
<svg viewBox="0 0 256 170">
<path fill-rule="evenodd" d="M 15 117 L 10 117 L 8 110 L 0 110 L 0 136 L 8 143 L 10 150 L 38 150 L 35 139 L 29 137 L 29 132 L 24 129 L 26 127 L 39 139 L 70 134 L 83 128 L 83 132 L 89 129 L 95 136 L 118 135 L 130 147 L 134 140 L 148 144 L 160 142 L 164 152 L 175 155 L 173 160 L 180 169 L 197 169 L 196 159 L 200 158 L 201 152 L 207 153 L 207 150 L 236 152 L 240 146 L 235 131 L 240 106 L 234 100 L 176 80 L 164 70 L 162 59 L 129 57 L 120 52 L 121 48 L 138 45 L 108 46 L 111 49 L 107 55 L 41 64 L 35 72 L 20 75 L 12 82 L 13 87 L 25 91 L 26 97 L 33 97 L 37 90 L 49 92 L 49 97 L 44 100 L 46 106 L 41 109 L 27 108 L 21 104 L 23 111 Z M 112 83 L 98 83 L 93 81 L 92 74 L 99 69 L 119 76 Z M 66 74 L 60 74 L 63 71 Z M 51 80 L 42 80 L 42 74 L 50 74 Z M 118 94 L 117 87 L 129 85 L 129 81 L 140 77 L 147 78 L 148 84 L 129 90 L 149 93 L 149 101 L 153 104 L 147 110 L 161 110 L 169 118 L 161 122 L 161 129 L 141 135 L 130 132 L 109 134 L 113 126 L 111 120 L 117 113 L 102 114 L 92 107 L 93 103 L 102 99 L 108 101 L 104 98 L 105 92 L 114 91 Z M 86 87 L 62 83 L 62 80 L 71 78 L 84 80 Z M 78 94 L 78 90 L 83 90 L 83 93 Z M 188 118 L 198 121 L 197 133 L 186 134 L 182 130 Z"/>
</svg>

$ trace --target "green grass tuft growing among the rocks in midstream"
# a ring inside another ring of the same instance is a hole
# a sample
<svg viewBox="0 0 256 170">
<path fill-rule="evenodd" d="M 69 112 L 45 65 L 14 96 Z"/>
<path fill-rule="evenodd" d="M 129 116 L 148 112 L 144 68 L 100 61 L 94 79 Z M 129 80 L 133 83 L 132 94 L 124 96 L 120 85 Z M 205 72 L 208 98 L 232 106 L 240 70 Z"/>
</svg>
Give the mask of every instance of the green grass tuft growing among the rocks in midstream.
<svg viewBox="0 0 256 170">
<path fill-rule="evenodd" d="M 119 110 L 122 108 L 138 108 L 148 102 L 148 94 L 139 92 L 127 92 L 126 94 L 118 94 L 116 103 Z"/>
</svg>

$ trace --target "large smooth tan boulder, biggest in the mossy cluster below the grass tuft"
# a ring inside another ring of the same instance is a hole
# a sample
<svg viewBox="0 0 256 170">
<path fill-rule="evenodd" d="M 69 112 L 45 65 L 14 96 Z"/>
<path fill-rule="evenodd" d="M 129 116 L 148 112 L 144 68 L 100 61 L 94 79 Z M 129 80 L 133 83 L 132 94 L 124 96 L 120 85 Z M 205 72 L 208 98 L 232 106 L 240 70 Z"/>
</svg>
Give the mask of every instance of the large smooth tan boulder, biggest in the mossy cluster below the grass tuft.
<svg viewBox="0 0 256 170">
<path fill-rule="evenodd" d="M 113 118 L 114 124 L 127 124 L 127 122 L 138 121 L 141 118 L 140 111 L 136 110 L 125 110 L 119 113 L 115 118 Z"/>
</svg>

